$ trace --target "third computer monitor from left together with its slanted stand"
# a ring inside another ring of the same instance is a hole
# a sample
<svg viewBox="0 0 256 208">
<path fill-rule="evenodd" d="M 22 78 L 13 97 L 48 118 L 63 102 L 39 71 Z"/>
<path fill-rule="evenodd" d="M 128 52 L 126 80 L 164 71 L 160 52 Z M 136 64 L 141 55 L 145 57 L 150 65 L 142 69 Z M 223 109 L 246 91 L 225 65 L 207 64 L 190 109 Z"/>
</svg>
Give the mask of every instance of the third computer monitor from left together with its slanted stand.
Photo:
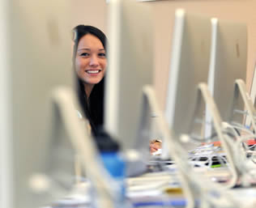
<svg viewBox="0 0 256 208">
<path fill-rule="evenodd" d="M 232 176 L 227 186 L 233 187 L 239 176 L 237 163 L 233 158 L 233 146 L 228 142 L 228 135 L 223 132 L 220 113 L 206 84 L 210 52 L 213 49 L 211 45 L 215 40 L 211 33 L 215 34 L 216 22 L 217 19 L 210 21 L 207 17 L 186 14 L 183 10 L 176 11 L 166 118 L 170 129 L 177 134 L 177 141 L 182 142 L 183 148 L 191 150 L 192 145 L 197 145 L 194 141 L 200 144 L 206 142 L 201 130 L 204 126 L 203 108 L 207 104 Z M 173 154 L 176 158 L 179 156 L 175 151 Z"/>
</svg>

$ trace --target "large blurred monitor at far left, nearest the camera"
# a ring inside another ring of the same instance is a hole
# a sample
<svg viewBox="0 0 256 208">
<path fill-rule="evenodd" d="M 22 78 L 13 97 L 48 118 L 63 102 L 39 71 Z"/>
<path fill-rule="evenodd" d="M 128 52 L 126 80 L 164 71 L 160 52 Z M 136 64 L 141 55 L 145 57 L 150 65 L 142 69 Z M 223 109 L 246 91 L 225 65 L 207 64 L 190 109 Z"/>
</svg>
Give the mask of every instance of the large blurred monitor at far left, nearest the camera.
<svg viewBox="0 0 256 208">
<path fill-rule="evenodd" d="M 1 207 L 47 204 L 58 193 L 56 188 L 64 188 L 74 176 L 69 138 L 64 131 L 58 140 L 50 137 L 52 121 L 59 118 L 54 118 L 51 91 L 59 85 L 73 86 L 69 3 L 1 3 Z M 62 175 L 56 176 L 55 170 Z M 36 173 L 55 175 L 63 183 L 51 178 L 56 184 L 37 194 L 30 186 Z"/>
</svg>

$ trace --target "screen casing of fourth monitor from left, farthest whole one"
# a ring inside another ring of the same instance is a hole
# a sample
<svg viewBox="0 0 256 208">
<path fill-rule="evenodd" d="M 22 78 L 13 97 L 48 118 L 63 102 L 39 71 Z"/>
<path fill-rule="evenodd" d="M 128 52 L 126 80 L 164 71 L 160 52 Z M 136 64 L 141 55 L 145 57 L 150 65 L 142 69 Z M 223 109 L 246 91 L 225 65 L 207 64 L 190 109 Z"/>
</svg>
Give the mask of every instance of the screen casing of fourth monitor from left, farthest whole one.
<svg viewBox="0 0 256 208">
<path fill-rule="evenodd" d="M 243 124 L 244 115 L 233 113 L 235 80 L 246 79 L 247 28 L 245 23 L 215 19 L 212 31 L 211 66 L 208 87 L 223 121 Z M 244 111 L 241 96 L 234 107 Z M 211 137 L 213 126 L 210 112 L 206 112 L 205 134 Z"/>
</svg>

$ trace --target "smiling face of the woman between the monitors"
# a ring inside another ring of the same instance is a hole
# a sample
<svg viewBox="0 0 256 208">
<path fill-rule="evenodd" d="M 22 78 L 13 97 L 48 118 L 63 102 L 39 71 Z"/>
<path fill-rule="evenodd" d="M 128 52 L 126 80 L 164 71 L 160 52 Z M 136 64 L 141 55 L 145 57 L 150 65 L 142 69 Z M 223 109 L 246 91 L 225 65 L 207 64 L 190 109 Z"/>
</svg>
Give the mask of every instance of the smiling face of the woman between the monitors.
<svg viewBox="0 0 256 208">
<path fill-rule="evenodd" d="M 79 40 L 75 70 L 84 84 L 100 83 L 107 66 L 105 49 L 96 36 L 87 34 Z"/>
</svg>

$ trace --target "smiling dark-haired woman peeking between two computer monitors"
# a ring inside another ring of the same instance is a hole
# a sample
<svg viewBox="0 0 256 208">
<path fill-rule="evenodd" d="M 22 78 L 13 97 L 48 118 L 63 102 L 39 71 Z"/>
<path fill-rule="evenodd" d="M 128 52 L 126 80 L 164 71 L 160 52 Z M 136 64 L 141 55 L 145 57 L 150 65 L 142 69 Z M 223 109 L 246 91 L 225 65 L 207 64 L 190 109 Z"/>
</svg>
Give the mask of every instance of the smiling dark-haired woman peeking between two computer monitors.
<svg viewBox="0 0 256 208">
<path fill-rule="evenodd" d="M 92 134 L 96 135 L 103 125 L 106 36 L 98 28 L 86 25 L 79 25 L 73 31 L 73 65 L 78 79 L 79 101 L 91 124 Z"/>
</svg>

